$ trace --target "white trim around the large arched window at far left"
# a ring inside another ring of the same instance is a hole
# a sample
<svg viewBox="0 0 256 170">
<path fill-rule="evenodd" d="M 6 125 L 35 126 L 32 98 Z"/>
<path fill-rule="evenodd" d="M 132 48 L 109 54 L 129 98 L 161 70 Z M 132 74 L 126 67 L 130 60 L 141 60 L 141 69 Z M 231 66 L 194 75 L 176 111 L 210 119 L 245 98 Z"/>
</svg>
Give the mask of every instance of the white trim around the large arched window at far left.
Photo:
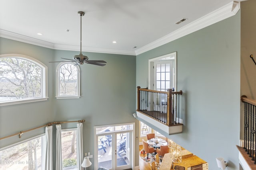
<svg viewBox="0 0 256 170">
<path fill-rule="evenodd" d="M 0 106 L 8 106 L 8 105 L 14 105 L 14 104 L 24 104 L 24 103 L 30 103 L 30 102 L 39 102 L 39 101 L 45 101 L 48 99 L 48 88 L 47 88 L 47 66 L 41 63 L 40 61 L 28 57 L 26 55 L 20 55 L 20 54 L 3 54 L 0 55 L 1 58 L 18 58 L 26 61 L 30 61 L 31 63 L 34 63 L 38 65 L 42 72 L 41 72 L 41 96 L 35 97 L 35 98 L 23 98 L 18 100 L 8 100 L 8 101 L 1 101 L 0 100 Z"/>
</svg>

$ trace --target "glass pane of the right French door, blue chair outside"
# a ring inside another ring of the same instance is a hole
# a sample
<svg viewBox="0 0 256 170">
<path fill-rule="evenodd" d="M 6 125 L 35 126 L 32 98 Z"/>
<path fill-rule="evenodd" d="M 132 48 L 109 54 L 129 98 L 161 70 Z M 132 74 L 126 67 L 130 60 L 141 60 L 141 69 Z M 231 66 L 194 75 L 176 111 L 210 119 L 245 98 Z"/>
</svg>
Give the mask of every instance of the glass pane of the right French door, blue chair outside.
<svg viewBox="0 0 256 170">
<path fill-rule="evenodd" d="M 127 135 L 128 133 L 116 134 L 116 166 L 123 166 L 130 164 L 129 156 L 127 156 Z"/>
</svg>

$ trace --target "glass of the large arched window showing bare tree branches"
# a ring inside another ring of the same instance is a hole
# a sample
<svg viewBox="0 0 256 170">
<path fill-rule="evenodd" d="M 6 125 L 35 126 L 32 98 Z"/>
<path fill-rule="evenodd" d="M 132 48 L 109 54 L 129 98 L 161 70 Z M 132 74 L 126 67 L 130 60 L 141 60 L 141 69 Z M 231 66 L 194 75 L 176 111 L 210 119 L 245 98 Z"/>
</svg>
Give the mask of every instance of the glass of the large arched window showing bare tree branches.
<svg viewBox="0 0 256 170">
<path fill-rule="evenodd" d="M 42 68 L 21 58 L 0 58 L 0 102 L 42 97 Z"/>
</svg>

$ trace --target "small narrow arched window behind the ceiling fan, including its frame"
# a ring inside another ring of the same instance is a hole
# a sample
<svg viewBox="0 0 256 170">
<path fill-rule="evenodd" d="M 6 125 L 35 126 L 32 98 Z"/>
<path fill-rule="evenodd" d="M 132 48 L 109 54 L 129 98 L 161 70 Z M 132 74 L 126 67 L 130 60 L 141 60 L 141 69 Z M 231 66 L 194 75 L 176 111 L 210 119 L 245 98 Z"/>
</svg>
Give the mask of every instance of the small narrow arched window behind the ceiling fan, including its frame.
<svg viewBox="0 0 256 170">
<path fill-rule="evenodd" d="M 80 98 L 80 68 L 76 63 L 65 62 L 56 68 L 56 98 Z"/>
</svg>

